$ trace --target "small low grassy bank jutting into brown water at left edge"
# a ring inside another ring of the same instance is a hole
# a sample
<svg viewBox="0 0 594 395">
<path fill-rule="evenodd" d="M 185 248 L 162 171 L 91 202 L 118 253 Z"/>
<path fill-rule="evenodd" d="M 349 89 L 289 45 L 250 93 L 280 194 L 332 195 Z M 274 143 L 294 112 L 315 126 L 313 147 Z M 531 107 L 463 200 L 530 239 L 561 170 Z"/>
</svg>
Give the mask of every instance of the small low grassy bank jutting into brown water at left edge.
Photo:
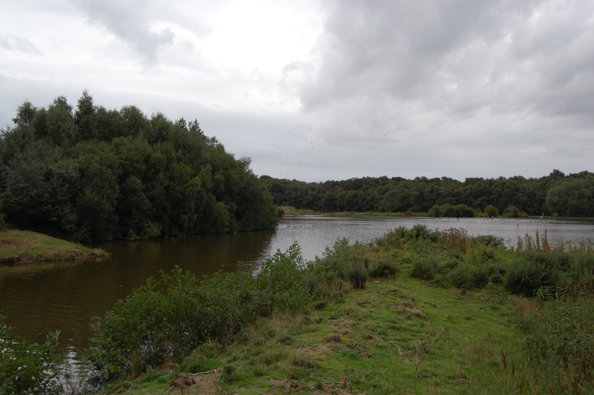
<svg viewBox="0 0 594 395">
<path fill-rule="evenodd" d="M 0 262 L 3 263 L 61 261 L 106 255 L 100 248 L 87 248 L 29 230 L 0 232 Z"/>
</svg>

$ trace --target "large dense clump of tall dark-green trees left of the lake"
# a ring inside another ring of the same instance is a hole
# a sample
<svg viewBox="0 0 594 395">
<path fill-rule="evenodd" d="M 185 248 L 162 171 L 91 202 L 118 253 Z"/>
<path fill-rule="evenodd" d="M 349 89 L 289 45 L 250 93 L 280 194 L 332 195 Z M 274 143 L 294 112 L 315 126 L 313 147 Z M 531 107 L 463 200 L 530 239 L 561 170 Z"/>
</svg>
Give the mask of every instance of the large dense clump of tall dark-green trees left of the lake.
<svg viewBox="0 0 594 395">
<path fill-rule="evenodd" d="M 75 241 L 270 228 L 270 193 L 196 120 L 106 109 L 87 91 L 18 106 L 0 130 L 0 216 Z M 4 206 L 4 207 L 2 207 Z"/>
</svg>

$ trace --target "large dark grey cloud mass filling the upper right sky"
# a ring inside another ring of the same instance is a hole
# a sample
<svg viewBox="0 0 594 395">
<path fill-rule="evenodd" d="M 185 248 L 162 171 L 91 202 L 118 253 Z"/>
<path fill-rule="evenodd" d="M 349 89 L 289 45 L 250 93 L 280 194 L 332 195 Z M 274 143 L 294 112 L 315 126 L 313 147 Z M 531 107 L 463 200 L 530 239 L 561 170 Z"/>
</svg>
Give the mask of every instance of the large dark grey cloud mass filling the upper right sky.
<svg viewBox="0 0 594 395">
<path fill-rule="evenodd" d="M 593 15 L 581 1 L 337 1 L 303 110 L 355 97 L 454 118 L 486 107 L 591 122 Z"/>
</svg>

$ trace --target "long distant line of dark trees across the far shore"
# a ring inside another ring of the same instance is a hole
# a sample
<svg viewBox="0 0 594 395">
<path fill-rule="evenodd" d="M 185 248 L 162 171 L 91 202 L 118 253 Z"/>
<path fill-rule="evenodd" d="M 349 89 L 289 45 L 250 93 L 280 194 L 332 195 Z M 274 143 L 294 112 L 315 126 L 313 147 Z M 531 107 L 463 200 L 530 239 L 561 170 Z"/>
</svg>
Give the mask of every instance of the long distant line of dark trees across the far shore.
<svg viewBox="0 0 594 395">
<path fill-rule="evenodd" d="M 364 177 L 344 181 L 302 182 L 264 175 L 260 179 L 277 206 L 322 212 L 380 211 L 472 216 L 494 206 L 498 213 L 517 208 L 529 215 L 594 217 L 594 173 L 565 175 L 553 170 L 541 178 Z M 462 205 L 462 206 L 458 206 Z M 456 207 L 458 206 L 458 207 Z M 467 206 L 469 209 L 465 209 Z M 440 213 L 441 211 L 441 213 Z"/>
</svg>

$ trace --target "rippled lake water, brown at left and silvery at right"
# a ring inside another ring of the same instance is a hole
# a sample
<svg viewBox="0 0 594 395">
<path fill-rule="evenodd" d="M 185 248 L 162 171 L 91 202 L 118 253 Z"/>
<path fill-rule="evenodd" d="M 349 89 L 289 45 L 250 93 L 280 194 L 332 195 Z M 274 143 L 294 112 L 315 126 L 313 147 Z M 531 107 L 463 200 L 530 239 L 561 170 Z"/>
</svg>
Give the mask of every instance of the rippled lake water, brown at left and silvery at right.
<svg viewBox="0 0 594 395">
<path fill-rule="evenodd" d="M 337 238 L 371 241 L 388 229 L 425 223 L 431 229 L 463 227 L 470 235 L 501 236 L 511 245 L 525 233 L 548 232 L 549 242 L 594 239 L 593 219 L 433 219 L 395 217 L 285 217 L 276 229 L 227 235 L 164 237 L 153 241 L 92 244 L 112 255 L 102 260 L 0 266 L 0 314 L 15 332 L 31 342 L 61 331 L 63 347 L 85 347 L 91 317 L 102 316 L 149 276 L 175 265 L 198 276 L 233 270 L 258 270 L 276 249 L 294 241 L 304 258 L 321 255 Z"/>
</svg>

